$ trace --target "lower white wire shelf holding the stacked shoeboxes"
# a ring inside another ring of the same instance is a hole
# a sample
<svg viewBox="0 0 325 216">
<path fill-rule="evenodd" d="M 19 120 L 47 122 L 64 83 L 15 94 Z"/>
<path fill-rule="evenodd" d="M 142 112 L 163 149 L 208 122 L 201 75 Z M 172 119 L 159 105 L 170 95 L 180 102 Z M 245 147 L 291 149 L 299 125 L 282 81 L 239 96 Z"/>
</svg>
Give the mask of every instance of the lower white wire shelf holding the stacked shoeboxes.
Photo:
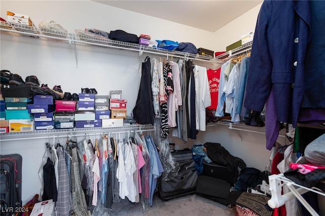
<svg viewBox="0 0 325 216">
<path fill-rule="evenodd" d="M 80 135 L 80 134 L 100 134 L 105 132 L 125 132 L 125 131 L 151 131 L 152 125 L 124 124 L 123 127 L 110 128 L 70 128 L 70 129 L 52 129 L 52 130 L 33 130 L 21 132 L 9 132 L 0 134 L 1 141 L 19 140 L 19 139 L 38 139 L 58 135 Z"/>
</svg>

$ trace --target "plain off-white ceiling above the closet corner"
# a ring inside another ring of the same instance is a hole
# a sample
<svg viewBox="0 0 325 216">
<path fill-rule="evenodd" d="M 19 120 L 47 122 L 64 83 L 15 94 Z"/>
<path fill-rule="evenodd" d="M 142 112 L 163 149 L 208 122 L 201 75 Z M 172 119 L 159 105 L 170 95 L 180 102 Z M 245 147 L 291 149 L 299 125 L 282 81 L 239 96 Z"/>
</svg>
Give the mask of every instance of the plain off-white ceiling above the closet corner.
<svg viewBox="0 0 325 216">
<path fill-rule="evenodd" d="M 263 0 L 99 0 L 94 2 L 215 32 L 258 4 L 261 4 Z"/>
</svg>

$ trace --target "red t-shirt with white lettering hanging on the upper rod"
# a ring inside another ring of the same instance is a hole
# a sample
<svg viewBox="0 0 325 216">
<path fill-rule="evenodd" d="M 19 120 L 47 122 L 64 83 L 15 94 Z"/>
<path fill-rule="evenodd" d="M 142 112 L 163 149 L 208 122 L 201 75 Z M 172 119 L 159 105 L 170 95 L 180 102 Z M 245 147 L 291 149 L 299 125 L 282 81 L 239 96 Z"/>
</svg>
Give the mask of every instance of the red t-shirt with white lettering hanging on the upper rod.
<svg viewBox="0 0 325 216">
<path fill-rule="evenodd" d="M 219 67 L 216 70 L 213 70 L 211 68 L 207 70 L 210 95 L 211 95 L 211 106 L 208 106 L 207 108 L 214 111 L 217 109 L 217 104 L 218 104 L 220 71 L 221 71 L 221 67 Z"/>
</svg>

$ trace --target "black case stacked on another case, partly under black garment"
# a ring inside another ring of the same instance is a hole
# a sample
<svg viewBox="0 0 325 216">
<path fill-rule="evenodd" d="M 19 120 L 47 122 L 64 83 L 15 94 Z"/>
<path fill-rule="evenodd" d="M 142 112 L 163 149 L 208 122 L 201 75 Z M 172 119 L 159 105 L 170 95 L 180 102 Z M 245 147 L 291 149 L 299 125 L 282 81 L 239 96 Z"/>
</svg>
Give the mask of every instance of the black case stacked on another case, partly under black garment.
<svg viewBox="0 0 325 216">
<path fill-rule="evenodd" d="M 220 165 L 215 162 L 207 163 L 206 161 L 203 161 L 202 164 L 203 164 L 202 175 L 223 179 L 230 183 L 237 182 L 239 174 L 228 170 L 226 166 Z"/>
</svg>

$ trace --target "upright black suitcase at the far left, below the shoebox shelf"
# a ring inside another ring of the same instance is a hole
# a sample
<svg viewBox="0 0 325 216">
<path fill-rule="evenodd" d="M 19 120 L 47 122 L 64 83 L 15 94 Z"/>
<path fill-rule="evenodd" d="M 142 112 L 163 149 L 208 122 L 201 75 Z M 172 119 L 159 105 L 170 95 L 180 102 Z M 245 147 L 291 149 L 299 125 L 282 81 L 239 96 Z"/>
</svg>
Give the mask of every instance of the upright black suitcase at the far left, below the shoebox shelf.
<svg viewBox="0 0 325 216">
<path fill-rule="evenodd" d="M 21 175 L 22 157 L 18 154 L 2 155 L 0 161 L 1 177 L 1 216 L 15 215 L 22 207 Z"/>
</svg>

